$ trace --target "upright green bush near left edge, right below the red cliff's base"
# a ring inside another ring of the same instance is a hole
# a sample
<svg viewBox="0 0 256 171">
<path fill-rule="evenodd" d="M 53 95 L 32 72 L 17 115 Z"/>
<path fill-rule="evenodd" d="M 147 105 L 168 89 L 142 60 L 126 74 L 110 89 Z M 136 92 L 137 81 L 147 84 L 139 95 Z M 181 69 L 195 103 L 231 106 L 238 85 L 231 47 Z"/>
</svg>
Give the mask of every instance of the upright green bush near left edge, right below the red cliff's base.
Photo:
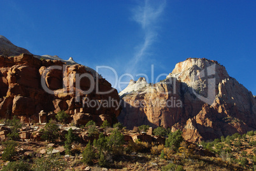
<svg viewBox="0 0 256 171">
<path fill-rule="evenodd" d="M 22 123 L 20 123 L 20 120 L 13 116 L 11 120 L 6 120 L 6 125 L 10 126 L 11 132 L 7 134 L 7 137 L 10 139 L 19 139 L 18 135 L 18 128 L 22 127 Z"/>
</svg>

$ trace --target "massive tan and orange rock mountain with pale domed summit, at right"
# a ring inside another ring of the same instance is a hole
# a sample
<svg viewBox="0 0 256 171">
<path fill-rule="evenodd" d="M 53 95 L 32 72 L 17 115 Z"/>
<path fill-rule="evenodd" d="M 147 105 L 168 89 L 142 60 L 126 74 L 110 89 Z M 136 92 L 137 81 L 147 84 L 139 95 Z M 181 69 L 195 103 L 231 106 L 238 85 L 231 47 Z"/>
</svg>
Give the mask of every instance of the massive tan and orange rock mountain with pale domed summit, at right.
<svg viewBox="0 0 256 171">
<path fill-rule="evenodd" d="M 125 127 L 150 125 L 182 130 L 200 141 L 256 129 L 256 100 L 225 67 L 205 58 L 176 64 L 167 78 L 122 98 Z"/>
</svg>

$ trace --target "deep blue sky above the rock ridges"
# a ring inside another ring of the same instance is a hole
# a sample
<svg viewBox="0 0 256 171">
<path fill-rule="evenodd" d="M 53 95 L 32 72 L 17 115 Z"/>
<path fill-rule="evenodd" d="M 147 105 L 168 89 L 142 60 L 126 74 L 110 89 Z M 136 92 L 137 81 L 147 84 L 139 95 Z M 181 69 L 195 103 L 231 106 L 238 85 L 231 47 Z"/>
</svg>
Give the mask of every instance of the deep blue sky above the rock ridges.
<svg viewBox="0 0 256 171">
<path fill-rule="evenodd" d="M 36 55 L 106 65 L 118 77 L 143 73 L 149 82 L 152 64 L 156 78 L 188 57 L 205 57 L 256 95 L 255 0 L 1 0 L 0 6 L 0 34 Z M 110 69 L 99 73 L 115 85 Z"/>
</svg>

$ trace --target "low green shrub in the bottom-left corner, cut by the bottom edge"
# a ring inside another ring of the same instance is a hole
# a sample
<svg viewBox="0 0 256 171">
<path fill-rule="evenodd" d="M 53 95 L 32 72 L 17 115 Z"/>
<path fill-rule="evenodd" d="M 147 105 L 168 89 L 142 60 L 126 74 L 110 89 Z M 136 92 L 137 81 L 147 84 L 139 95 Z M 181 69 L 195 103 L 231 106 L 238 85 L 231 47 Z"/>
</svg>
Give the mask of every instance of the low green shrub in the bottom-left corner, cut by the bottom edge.
<svg viewBox="0 0 256 171">
<path fill-rule="evenodd" d="M 29 163 L 25 163 L 24 161 L 12 161 L 8 163 L 7 166 L 4 166 L 2 171 L 29 171 L 30 166 Z"/>
</svg>

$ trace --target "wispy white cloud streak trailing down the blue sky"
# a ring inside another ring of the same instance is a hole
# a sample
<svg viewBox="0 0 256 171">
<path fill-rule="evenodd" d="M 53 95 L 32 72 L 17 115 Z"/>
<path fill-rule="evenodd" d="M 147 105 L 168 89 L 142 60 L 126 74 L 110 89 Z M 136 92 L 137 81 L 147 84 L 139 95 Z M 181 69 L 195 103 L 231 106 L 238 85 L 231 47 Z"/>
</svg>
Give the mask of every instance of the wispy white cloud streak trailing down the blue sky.
<svg viewBox="0 0 256 171">
<path fill-rule="evenodd" d="M 138 44 L 138 49 L 129 62 L 125 72 L 136 74 L 138 66 L 141 65 L 143 58 L 150 55 L 150 48 L 157 39 L 157 28 L 159 28 L 159 18 L 164 12 L 166 1 L 148 1 L 132 9 L 132 20 L 137 22 L 143 31 L 143 43 Z"/>
</svg>

